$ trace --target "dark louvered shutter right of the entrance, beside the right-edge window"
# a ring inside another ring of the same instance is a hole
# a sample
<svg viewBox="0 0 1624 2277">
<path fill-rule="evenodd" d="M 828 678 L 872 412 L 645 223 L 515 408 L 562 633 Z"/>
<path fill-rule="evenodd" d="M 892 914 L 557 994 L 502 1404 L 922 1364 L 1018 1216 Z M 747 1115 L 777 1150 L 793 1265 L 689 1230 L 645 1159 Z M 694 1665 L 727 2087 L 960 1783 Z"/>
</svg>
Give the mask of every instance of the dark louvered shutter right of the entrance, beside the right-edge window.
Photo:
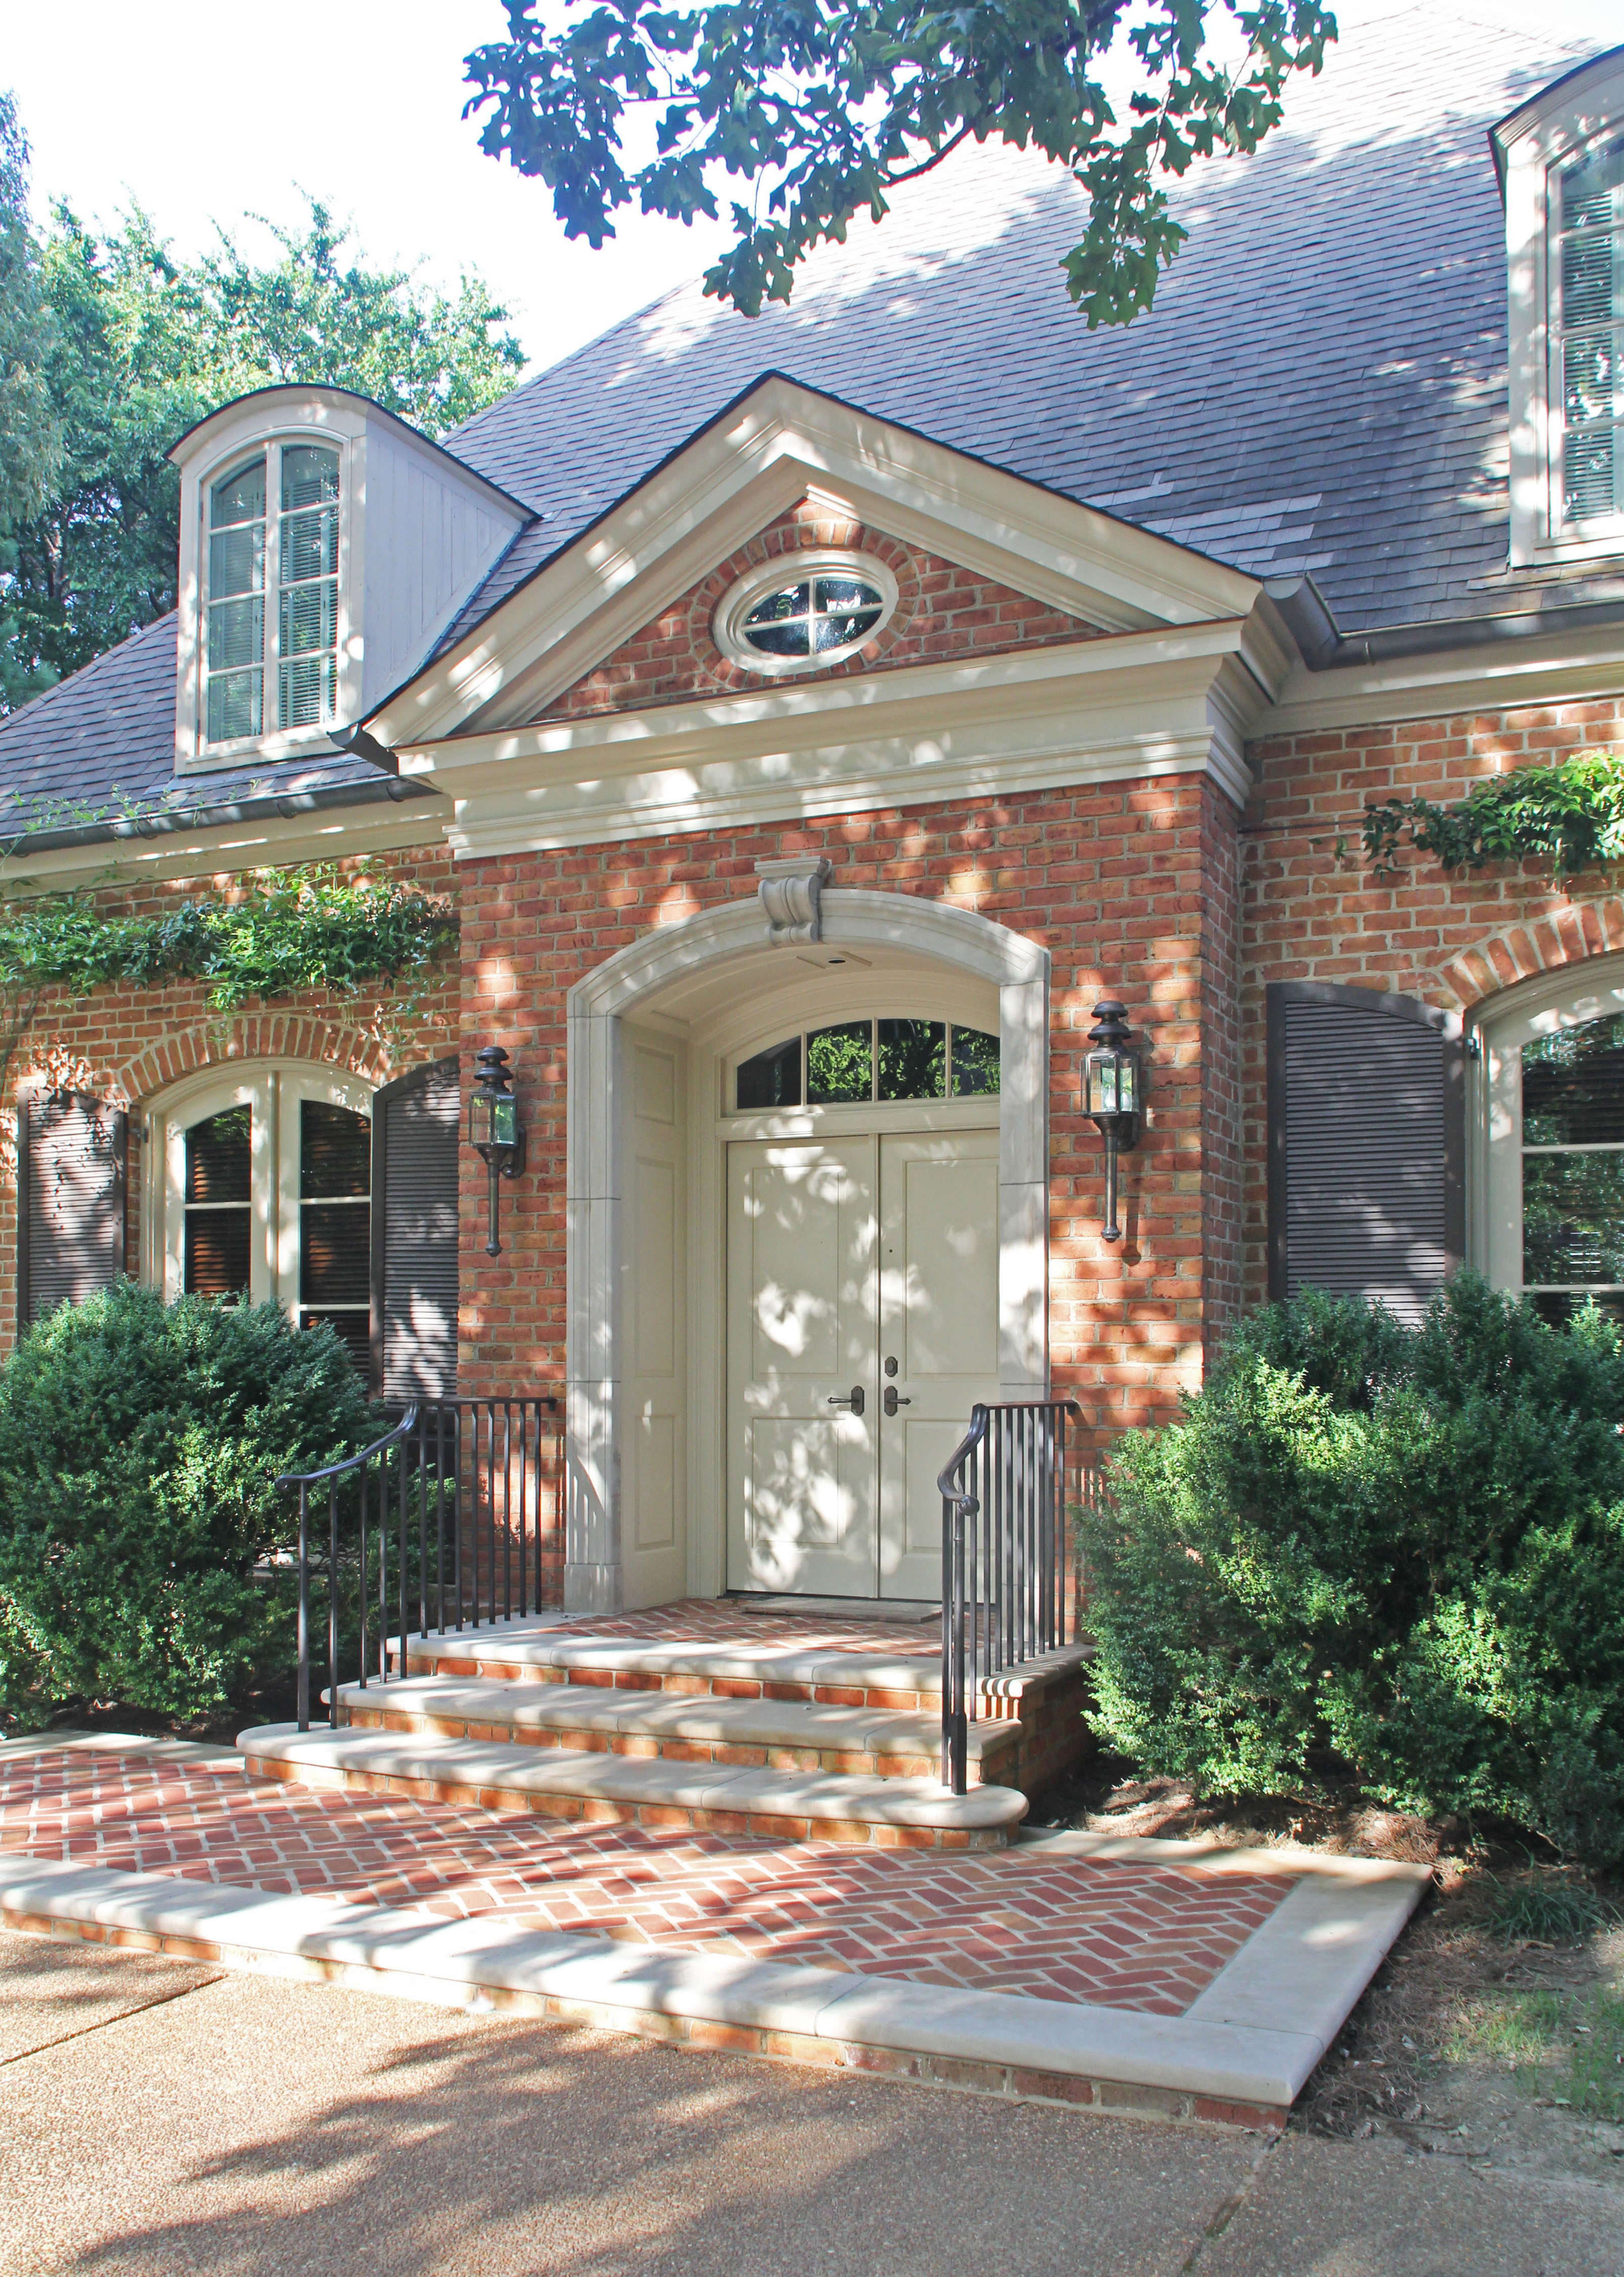
<svg viewBox="0 0 1624 2277">
<path fill-rule="evenodd" d="M 1414 997 L 1269 988 L 1269 1293 L 1419 1321 L 1465 1248 L 1460 1043 Z"/>
</svg>

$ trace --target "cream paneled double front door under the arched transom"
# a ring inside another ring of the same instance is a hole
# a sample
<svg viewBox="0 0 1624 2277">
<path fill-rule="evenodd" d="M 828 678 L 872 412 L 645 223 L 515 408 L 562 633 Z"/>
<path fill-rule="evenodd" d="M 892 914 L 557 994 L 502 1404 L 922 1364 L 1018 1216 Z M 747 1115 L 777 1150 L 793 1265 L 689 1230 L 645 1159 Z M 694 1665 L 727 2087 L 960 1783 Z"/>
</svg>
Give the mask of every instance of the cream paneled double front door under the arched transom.
<svg viewBox="0 0 1624 2277">
<path fill-rule="evenodd" d="M 729 1148 L 729 1587 L 941 1596 L 998 1398 L 998 1132 Z"/>
</svg>

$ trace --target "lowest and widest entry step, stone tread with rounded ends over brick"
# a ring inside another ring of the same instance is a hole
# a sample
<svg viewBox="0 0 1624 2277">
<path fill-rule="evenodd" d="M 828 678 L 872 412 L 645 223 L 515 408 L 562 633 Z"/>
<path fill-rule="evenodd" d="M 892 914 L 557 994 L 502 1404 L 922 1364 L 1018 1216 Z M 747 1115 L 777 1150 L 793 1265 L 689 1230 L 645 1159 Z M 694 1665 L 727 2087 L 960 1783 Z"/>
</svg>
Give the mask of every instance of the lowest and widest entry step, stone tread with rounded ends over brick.
<svg viewBox="0 0 1624 2277">
<path fill-rule="evenodd" d="M 362 1787 L 481 1810 L 670 1831 L 752 1833 L 774 1842 L 875 1842 L 922 1849 L 1000 1849 L 1025 1817 L 1011 1787 L 950 1794 L 936 1778 L 768 1772 L 667 1762 L 608 1749 L 499 1746 L 437 1733 L 262 1724 L 237 1746 L 251 1778 Z"/>
</svg>

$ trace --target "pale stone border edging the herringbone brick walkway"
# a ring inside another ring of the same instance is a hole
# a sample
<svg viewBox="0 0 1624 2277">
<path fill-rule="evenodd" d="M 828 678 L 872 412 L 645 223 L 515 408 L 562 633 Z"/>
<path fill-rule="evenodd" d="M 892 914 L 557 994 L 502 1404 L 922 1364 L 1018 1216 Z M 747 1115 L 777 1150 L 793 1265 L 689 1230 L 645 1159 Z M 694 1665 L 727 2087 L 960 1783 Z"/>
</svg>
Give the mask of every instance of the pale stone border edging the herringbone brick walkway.
<svg viewBox="0 0 1624 2277">
<path fill-rule="evenodd" d="M 100 1733 L 39 1733 L 18 1753 L 109 1749 L 230 1760 L 235 1749 Z M 1184 2015 L 1023 1999 L 674 1954 L 517 1929 L 485 1915 L 424 1922 L 389 1906 L 271 1897 L 102 1867 L 0 1860 L 0 1922 L 182 1960 L 323 1979 L 440 2006 L 503 2008 L 688 2047 L 845 2065 L 1123 2115 L 1278 2129 L 1421 1899 L 1430 1869 L 1321 1851 L 1032 1835 L 1075 1856 L 1298 1876 L 1291 1894 Z M 1025 1847 L 1025 1844 L 1023 1844 Z"/>
</svg>

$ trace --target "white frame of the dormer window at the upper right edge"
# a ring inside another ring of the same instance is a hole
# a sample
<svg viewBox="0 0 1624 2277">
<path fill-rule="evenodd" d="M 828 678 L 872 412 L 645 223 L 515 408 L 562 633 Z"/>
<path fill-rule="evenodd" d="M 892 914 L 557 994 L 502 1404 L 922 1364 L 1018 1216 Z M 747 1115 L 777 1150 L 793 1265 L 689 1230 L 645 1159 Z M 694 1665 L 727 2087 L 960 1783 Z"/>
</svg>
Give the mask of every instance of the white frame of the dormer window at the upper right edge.
<svg viewBox="0 0 1624 2277">
<path fill-rule="evenodd" d="M 1558 80 L 1494 130 L 1506 182 L 1512 569 L 1624 556 L 1624 515 L 1585 528 L 1563 521 L 1563 387 L 1551 369 L 1556 178 L 1615 134 L 1624 134 L 1619 48 Z"/>
</svg>

